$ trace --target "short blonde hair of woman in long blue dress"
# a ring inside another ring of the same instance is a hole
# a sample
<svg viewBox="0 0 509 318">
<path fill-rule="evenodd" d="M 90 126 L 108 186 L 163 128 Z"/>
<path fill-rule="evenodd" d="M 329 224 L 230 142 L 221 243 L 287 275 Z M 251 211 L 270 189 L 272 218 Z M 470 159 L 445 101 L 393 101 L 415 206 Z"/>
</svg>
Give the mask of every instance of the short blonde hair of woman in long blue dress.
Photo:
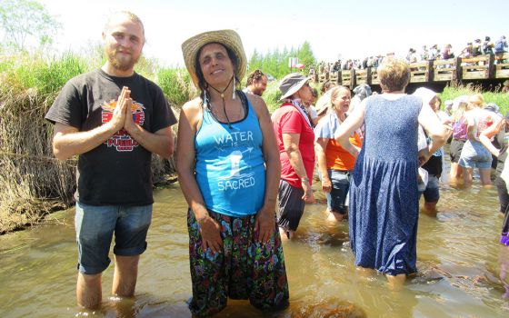
<svg viewBox="0 0 509 318">
<path fill-rule="evenodd" d="M 385 57 L 376 73 L 380 86 L 387 93 L 403 91 L 410 81 L 408 64 L 399 58 Z"/>
</svg>

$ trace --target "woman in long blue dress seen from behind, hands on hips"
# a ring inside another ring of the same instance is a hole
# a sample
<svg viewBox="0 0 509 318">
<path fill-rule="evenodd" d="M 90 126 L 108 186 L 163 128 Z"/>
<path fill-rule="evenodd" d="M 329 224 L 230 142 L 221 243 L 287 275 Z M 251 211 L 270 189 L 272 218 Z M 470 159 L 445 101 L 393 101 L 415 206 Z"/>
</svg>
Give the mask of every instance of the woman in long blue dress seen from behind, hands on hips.
<svg viewBox="0 0 509 318">
<path fill-rule="evenodd" d="M 354 156 L 350 184 L 349 235 L 355 265 L 385 273 L 401 283 L 415 273 L 418 220 L 417 169 L 446 140 L 447 128 L 429 104 L 404 94 L 408 65 L 386 58 L 378 68 L 384 94 L 366 98 L 340 126 L 336 139 Z M 364 124 L 362 149 L 348 136 Z M 417 153 L 417 127 L 432 139 Z"/>
</svg>

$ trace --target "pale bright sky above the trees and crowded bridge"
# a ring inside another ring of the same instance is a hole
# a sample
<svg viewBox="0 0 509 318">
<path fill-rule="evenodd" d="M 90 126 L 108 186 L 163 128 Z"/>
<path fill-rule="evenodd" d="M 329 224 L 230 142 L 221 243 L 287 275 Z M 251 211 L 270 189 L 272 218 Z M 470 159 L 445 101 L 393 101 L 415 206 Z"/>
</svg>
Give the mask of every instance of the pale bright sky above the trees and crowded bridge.
<svg viewBox="0 0 509 318">
<path fill-rule="evenodd" d="M 60 50 L 79 52 L 100 43 L 106 17 L 130 10 L 145 24 L 144 53 L 164 65 L 183 65 L 180 45 L 208 30 L 235 29 L 246 54 L 311 44 L 318 60 L 362 58 L 409 47 L 446 43 L 461 51 L 466 42 L 509 36 L 507 0 L 39 0 L 63 29 Z"/>
</svg>

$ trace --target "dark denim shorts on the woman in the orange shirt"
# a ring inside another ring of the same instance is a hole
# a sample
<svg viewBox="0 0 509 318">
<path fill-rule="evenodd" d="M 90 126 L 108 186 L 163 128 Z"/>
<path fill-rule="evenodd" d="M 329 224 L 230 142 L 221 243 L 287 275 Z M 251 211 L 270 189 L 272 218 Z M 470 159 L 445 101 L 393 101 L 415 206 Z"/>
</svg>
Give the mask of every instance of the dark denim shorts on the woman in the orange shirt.
<svg viewBox="0 0 509 318">
<path fill-rule="evenodd" d="M 346 214 L 348 203 L 346 198 L 350 187 L 350 174 L 347 171 L 327 169 L 331 179 L 331 192 L 325 193 L 327 197 L 327 209 L 331 212 Z M 321 176 L 320 176 L 321 177 Z"/>
</svg>

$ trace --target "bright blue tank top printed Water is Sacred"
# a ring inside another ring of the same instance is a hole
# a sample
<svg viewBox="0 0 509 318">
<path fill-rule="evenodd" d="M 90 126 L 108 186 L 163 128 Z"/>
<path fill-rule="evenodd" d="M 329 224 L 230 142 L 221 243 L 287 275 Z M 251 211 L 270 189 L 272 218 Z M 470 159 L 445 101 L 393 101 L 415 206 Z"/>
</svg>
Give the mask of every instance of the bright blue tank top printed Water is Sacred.
<svg viewBox="0 0 509 318">
<path fill-rule="evenodd" d="M 204 107 L 195 137 L 195 177 L 205 206 L 235 217 L 256 214 L 264 204 L 262 130 L 249 102 L 246 111 L 243 120 L 229 126 Z"/>
</svg>

